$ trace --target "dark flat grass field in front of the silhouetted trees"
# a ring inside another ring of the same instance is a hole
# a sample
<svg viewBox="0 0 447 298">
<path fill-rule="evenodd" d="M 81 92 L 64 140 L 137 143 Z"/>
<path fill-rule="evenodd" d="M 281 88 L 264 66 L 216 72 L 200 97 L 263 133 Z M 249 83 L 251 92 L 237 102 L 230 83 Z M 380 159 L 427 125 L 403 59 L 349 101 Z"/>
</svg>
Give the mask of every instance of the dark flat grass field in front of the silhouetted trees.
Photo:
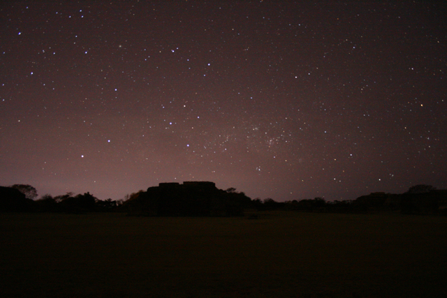
<svg viewBox="0 0 447 298">
<path fill-rule="evenodd" d="M 0 214 L 1 297 L 447 297 L 447 218 Z"/>
</svg>

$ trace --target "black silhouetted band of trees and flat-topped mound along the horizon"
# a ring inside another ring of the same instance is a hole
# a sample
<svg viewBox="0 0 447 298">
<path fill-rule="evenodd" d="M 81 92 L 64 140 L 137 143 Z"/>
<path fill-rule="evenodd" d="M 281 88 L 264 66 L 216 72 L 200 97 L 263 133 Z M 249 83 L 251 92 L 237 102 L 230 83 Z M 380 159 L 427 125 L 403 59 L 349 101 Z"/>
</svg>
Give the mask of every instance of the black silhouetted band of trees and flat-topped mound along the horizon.
<svg viewBox="0 0 447 298">
<path fill-rule="evenodd" d="M 271 198 L 252 200 L 235 188 L 223 191 L 212 182 L 160 184 L 126 195 L 122 200 L 99 200 L 91 193 L 46 194 L 38 198 L 28 184 L 0 186 L 0 211 L 110 212 L 142 216 L 242 216 L 247 209 L 330 213 L 375 213 L 447 215 L 447 190 L 419 184 L 402 194 L 370 193 L 356 200 L 327 201 L 324 198 L 277 202 Z"/>
</svg>

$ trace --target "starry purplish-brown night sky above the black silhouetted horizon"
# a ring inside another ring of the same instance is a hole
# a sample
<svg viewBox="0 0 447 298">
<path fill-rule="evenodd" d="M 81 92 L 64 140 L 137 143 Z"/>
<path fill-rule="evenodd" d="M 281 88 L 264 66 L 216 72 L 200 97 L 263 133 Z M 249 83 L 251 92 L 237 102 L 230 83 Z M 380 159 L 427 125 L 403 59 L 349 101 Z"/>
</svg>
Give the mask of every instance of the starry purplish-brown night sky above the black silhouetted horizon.
<svg viewBox="0 0 447 298">
<path fill-rule="evenodd" d="M 2 3 L 2 186 L 447 188 L 446 1 Z"/>
</svg>

